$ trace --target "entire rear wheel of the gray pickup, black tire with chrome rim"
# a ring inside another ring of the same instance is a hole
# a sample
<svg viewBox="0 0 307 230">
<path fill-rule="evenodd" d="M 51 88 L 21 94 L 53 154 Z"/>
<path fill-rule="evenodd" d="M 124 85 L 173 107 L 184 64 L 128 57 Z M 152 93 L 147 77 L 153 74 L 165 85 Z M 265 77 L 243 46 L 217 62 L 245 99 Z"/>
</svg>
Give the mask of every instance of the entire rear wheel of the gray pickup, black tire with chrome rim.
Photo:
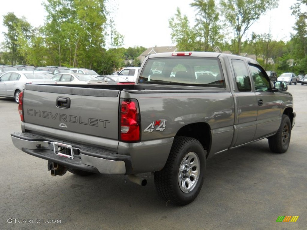
<svg viewBox="0 0 307 230">
<path fill-rule="evenodd" d="M 174 205 L 187 205 L 201 190 L 205 167 L 205 151 L 200 142 L 176 136 L 164 168 L 154 173 L 158 194 Z"/>
</svg>

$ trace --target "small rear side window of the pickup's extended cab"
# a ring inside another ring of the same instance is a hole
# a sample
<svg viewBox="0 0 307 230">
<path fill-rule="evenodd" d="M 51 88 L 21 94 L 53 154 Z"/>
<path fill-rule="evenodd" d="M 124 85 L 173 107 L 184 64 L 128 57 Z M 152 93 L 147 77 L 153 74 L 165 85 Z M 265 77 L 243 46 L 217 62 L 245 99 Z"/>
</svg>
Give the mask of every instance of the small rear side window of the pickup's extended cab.
<svg viewBox="0 0 307 230">
<path fill-rule="evenodd" d="M 231 63 L 239 92 L 251 92 L 251 80 L 245 62 L 243 60 L 231 59 Z"/>
</svg>

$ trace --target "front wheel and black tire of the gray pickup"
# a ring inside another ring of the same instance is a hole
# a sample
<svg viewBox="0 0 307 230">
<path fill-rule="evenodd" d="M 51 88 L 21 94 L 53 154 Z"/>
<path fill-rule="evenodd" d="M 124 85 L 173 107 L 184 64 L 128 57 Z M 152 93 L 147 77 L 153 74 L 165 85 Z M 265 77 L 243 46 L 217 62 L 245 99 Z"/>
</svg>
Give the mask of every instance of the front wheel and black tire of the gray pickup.
<svg viewBox="0 0 307 230">
<path fill-rule="evenodd" d="M 288 150 L 291 139 L 291 122 L 287 115 L 282 115 L 282 122 L 274 136 L 269 137 L 272 152 L 284 153 Z"/>
</svg>

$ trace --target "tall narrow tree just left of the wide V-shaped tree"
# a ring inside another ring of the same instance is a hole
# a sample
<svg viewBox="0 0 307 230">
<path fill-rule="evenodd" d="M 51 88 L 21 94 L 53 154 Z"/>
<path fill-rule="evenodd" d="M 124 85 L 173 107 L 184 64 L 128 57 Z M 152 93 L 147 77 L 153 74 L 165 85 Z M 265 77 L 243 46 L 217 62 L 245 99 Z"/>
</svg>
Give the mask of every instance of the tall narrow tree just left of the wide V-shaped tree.
<svg viewBox="0 0 307 230">
<path fill-rule="evenodd" d="M 217 42 L 223 39 L 215 1 L 194 0 L 190 5 L 198 10 L 195 21 L 198 37 L 203 44 L 202 51 L 214 51 Z"/>
</svg>

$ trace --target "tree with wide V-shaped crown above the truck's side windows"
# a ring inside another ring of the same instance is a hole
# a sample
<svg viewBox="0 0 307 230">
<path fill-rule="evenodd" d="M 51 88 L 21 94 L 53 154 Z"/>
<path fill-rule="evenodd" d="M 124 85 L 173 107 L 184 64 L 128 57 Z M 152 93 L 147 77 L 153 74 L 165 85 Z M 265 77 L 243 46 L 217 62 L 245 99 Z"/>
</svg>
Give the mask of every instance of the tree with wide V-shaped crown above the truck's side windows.
<svg viewBox="0 0 307 230">
<path fill-rule="evenodd" d="M 238 41 L 235 53 L 240 54 L 243 35 L 260 16 L 278 6 L 278 0 L 221 0 L 222 13 Z"/>
</svg>

